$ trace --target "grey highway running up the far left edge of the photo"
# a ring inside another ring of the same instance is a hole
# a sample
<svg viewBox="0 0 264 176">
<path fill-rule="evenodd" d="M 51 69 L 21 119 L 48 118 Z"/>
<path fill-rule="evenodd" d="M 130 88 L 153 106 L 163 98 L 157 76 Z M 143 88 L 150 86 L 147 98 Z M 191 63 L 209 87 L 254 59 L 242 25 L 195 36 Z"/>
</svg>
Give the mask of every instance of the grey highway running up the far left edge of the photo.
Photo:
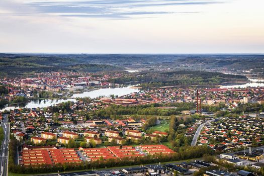
<svg viewBox="0 0 264 176">
<path fill-rule="evenodd" d="M 7 115 L 3 116 L 1 127 L 4 129 L 5 137 L 0 151 L 1 176 L 8 175 L 8 144 L 9 144 L 9 122 Z"/>
</svg>

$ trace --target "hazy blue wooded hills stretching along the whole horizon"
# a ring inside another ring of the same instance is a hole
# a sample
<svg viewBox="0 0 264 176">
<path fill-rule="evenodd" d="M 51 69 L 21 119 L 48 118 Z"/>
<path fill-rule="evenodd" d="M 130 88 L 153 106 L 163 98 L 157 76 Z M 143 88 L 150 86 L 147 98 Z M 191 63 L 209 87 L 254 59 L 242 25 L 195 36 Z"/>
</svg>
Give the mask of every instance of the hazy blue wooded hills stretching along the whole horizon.
<svg viewBox="0 0 264 176">
<path fill-rule="evenodd" d="M 97 64 L 97 65 L 89 65 Z M 100 66 L 99 66 L 100 65 Z M 229 71 L 264 77 L 264 55 L 235 54 L 1 54 L 0 73 L 19 75 L 36 71 L 143 70 Z"/>
</svg>

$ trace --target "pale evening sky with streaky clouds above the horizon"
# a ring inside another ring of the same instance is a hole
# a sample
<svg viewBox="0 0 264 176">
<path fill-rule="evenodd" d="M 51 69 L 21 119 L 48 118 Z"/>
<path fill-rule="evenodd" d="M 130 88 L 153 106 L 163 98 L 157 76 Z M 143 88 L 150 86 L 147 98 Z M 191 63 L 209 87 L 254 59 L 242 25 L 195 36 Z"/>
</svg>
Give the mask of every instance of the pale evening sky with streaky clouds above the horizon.
<svg viewBox="0 0 264 176">
<path fill-rule="evenodd" d="M 263 0 L 0 0 L 3 53 L 264 53 Z"/>
</svg>

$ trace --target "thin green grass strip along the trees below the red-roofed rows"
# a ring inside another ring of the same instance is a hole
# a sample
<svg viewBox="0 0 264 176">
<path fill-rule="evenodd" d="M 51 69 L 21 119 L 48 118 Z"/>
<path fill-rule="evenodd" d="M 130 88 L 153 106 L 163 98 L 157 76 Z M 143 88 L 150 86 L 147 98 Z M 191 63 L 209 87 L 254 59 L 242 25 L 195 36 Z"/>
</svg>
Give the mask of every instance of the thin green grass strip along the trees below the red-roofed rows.
<svg viewBox="0 0 264 176">
<path fill-rule="evenodd" d="M 202 158 L 194 158 L 194 160 L 197 159 L 202 159 Z M 180 161 L 168 161 L 168 162 L 161 162 L 160 164 L 167 164 L 167 163 L 181 163 L 181 162 L 189 162 L 192 161 L 192 159 L 185 159 L 185 160 L 180 160 Z M 150 164 L 158 164 L 158 163 L 150 163 Z M 144 164 L 143 164 L 144 165 Z M 127 167 L 133 167 L 133 166 L 140 166 L 140 165 L 127 165 L 127 166 L 120 166 L 120 167 L 108 167 L 107 169 L 121 169 L 121 168 L 127 168 Z M 106 168 L 98 168 L 97 170 L 104 170 Z M 72 170 L 72 171 L 65 171 L 65 173 L 67 172 L 78 172 L 78 171 L 85 171 L 85 170 Z M 54 172 L 53 172 L 54 173 Z M 21 174 L 21 173 L 12 173 L 12 172 L 8 172 L 9 176 L 30 176 L 30 175 L 39 175 L 39 174 L 49 174 L 49 173 L 34 173 L 34 174 L 30 174 L 30 173 L 25 173 L 25 174 Z M 50 173 L 51 174 L 51 173 Z"/>
</svg>

